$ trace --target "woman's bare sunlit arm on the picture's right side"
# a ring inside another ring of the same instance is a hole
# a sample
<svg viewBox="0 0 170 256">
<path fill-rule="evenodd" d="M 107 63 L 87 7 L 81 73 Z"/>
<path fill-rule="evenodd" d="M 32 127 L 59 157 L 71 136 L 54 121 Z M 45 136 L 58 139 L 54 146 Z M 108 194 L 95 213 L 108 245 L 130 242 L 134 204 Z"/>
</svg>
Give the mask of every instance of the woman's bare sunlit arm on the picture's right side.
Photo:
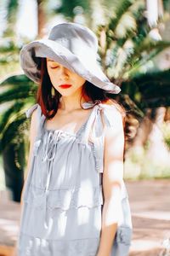
<svg viewBox="0 0 170 256">
<path fill-rule="evenodd" d="M 124 130 L 122 114 L 115 111 L 115 125 L 105 127 L 102 228 L 97 256 L 111 256 L 111 247 L 121 216 Z"/>
</svg>

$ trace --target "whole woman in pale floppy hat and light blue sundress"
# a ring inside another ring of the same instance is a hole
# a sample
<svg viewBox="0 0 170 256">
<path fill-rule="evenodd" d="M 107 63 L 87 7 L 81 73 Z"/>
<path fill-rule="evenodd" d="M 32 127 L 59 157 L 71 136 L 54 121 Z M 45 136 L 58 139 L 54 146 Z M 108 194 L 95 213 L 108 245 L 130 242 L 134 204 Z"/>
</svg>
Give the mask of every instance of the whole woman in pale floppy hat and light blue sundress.
<svg viewBox="0 0 170 256">
<path fill-rule="evenodd" d="M 91 30 L 66 22 L 20 52 L 21 67 L 39 85 L 37 103 L 26 111 L 19 256 L 128 253 L 124 112 L 107 96 L 120 88 L 100 70 L 97 49 Z"/>
</svg>

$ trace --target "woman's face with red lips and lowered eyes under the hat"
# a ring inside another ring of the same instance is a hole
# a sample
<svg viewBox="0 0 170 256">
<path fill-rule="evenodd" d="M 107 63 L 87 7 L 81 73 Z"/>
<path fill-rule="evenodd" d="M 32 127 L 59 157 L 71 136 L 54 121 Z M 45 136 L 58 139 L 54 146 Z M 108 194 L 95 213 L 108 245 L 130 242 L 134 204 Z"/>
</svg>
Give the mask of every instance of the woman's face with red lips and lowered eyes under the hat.
<svg viewBox="0 0 170 256">
<path fill-rule="evenodd" d="M 71 70 L 56 61 L 48 58 L 46 58 L 46 61 L 51 83 L 62 96 L 70 96 L 77 92 L 77 90 L 82 91 L 82 85 L 85 83 L 86 79 L 83 79 L 77 73 L 71 72 Z M 64 84 L 71 86 L 61 86 Z"/>
</svg>

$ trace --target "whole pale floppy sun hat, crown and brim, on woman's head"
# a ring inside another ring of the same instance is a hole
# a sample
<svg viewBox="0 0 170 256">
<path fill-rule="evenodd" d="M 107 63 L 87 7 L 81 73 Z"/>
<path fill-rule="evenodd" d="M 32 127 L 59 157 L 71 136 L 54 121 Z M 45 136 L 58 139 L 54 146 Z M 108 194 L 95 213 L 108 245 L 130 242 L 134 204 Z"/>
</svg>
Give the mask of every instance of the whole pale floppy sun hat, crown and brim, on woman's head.
<svg viewBox="0 0 170 256">
<path fill-rule="evenodd" d="M 41 58 L 48 57 L 95 86 L 118 94 L 121 89 L 111 83 L 99 67 L 97 52 L 98 38 L 92 30 L 74 22 L 65 22 L 54 26 L 48 38 L 26 44 L 20 50 L 20 66 L 29 79 L 39 83 Z"/>
</svg>

